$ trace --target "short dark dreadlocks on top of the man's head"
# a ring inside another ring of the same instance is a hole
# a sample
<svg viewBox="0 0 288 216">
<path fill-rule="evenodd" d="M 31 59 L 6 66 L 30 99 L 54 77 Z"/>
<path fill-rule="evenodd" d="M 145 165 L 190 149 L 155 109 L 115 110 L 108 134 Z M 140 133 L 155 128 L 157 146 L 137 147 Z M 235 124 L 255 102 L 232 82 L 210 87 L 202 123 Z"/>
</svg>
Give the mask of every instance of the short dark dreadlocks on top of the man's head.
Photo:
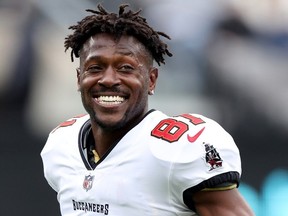
<svg viewBox="0 0 288 216">
<path fill-rule="evenodd" d="M 108 13 L 101 4 L 98 4 L 98 11 L 87 9 L 87 12 L 93 15 L 86 16 L 77 25 L 70 26 L 74 30 L 73 34 L 65 38 L 65 52 L 71 48 L 71 60 L 74 61 L 73 55 L 79 58 L 79 51 L 86 40 L 97 33 L 110 33 L 120 38 L 122 35 L 130 35 L 138 39 L 150 51 L 153 59 L 160 64 L 165 64 L 164 55 L 172 56 L 159 36 L 170 40 L 170 37 L 159 31 L 153 30 L 146 19 L 140 16 L 141 10 L 125 12 L 128 4 L 119 6 L 119 14 Z"/>
</svg>

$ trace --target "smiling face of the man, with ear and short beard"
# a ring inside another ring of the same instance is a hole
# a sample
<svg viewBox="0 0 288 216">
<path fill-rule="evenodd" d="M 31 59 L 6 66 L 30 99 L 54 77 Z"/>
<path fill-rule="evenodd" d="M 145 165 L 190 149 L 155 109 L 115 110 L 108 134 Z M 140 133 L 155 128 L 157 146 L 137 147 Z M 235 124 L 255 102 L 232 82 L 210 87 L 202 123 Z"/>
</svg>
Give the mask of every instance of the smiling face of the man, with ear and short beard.
<svg viewBox="0 0 288 216">
<path fill-rule="evenodd" d="M 136 125 L 148 109 L 158 71 L 145 47 L 131 36 L 91 37 L 80 51 L 78 88 L 92 126 L 118 130 Z"/>
</svg>

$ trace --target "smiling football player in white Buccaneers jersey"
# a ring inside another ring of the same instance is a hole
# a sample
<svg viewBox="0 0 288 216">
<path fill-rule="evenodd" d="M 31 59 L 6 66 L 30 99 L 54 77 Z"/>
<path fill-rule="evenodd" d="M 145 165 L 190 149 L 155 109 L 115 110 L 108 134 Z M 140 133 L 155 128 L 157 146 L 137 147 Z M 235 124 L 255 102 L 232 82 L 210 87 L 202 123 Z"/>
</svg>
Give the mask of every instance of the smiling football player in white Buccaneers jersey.
<svg viewBox="0 0 288 216">
<path fill-rule="evenodd" d="M 80 58 L 78 89 L 88 115 L 49 135 L 44 174 L 62 215 L 253 215 L 237 190 L 241 160 L 232 137 L 198 114 L 148 110 L 164 55 L 140 11 L 101 5 L 65 40 Z"/>
</svg>

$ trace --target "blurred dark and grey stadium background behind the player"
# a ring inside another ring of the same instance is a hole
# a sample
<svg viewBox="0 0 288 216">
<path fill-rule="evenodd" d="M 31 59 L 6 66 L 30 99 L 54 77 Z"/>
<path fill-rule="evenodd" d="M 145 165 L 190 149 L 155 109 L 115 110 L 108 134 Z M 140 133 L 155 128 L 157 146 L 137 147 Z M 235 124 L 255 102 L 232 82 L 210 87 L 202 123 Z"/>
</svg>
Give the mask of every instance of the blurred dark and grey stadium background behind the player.
<svg viewBox="0 0 288 216">
<path fill-rule="evenodd" d="M 84 112 L 63 41 L 99 2 L 0 0 L 0 215 L 60 215 L 39 153 L 49 131 Z M 142 8 L 172 38 L 150 107 L 218 121 L 240 148 L 240 191 L 256 215 L 287 216 L 288 2 L 101 2 Z"/>
</svg>

